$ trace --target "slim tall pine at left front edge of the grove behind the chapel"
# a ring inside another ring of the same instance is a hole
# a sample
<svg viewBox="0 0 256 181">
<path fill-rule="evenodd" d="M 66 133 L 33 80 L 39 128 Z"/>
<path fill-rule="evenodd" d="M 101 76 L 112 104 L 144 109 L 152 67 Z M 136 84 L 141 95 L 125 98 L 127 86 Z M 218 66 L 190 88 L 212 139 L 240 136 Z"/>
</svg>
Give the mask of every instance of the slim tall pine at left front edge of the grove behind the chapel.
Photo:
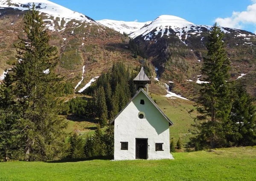
<svg viewBox="0 0 256 181">
<path fill-rule="evenodd" d="M 108 108 L 106 105 L 105 91 L 103 87 L 98 91 L 99 124 L 101 127 L 107 125 Z"/>
</svg>

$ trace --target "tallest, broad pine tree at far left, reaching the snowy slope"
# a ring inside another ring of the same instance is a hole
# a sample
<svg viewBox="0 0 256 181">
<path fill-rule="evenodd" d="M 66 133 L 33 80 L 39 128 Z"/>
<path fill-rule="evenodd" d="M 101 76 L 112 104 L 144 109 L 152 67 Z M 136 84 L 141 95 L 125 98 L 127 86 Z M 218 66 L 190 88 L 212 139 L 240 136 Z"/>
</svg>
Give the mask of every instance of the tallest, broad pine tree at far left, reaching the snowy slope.
<svg viewBox="0 0 256 181">
<path fill-rule="evenodd" d="M 19 37 L 17 62 L 12 68 L 13 112 L 20 115 L 17 147 L 27 161 L 54 159 L 63 151 L 66 123 L 58 116 L 63 92 L 55 74 L 57 48 L 49 45 L 49 34 L 35 5 L 24 16 L 24 33 Z"/>
</svg>

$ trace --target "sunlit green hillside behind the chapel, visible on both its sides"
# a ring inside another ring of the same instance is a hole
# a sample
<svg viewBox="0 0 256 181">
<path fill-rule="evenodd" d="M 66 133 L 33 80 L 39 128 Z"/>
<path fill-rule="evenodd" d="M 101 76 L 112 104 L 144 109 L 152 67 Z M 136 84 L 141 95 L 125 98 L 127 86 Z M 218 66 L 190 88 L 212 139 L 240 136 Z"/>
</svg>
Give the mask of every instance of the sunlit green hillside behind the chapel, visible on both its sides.
<svg viewBox="0 0 256 181">
<path fill-rule="evenodd" d="M 156 91 L 156 90 L 154 90 Z M 196 113 L 189 113 L 189 110 L 195 108 L 194 102 L 183 99 L 170 99 L 161 95 L 151 93 L 152 98 L 157 102 L 157 105 L 163 110 L 163 112 L 172 120 L 174 126 L 170 127 L 170 141 L 174 139 L 175 144 L 180 137 L 183 144 L 189 141 L 191 133 L 189 129 L 193 124 L 193 118 L 196 117 Z M 93 134 L 97 128 L 98 120 L 79 118 L 73 115 L 67 116 L 68 127 L 66 133 L 73 131 L 77 132 L 82 138 L 86 137 L 86 134 Z M 103 128 L 104 130 L 104 128 Z"/>
</svg>

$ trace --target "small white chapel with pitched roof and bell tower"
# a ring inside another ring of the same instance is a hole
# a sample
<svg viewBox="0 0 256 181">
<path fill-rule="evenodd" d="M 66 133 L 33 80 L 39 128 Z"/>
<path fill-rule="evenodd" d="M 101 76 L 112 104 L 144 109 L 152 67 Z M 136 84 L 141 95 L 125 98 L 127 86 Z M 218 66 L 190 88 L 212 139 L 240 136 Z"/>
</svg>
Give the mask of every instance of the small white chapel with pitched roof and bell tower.
<svg viewBox="0 0 256 181">
<path fill-rule="evenodd" d="M 148 96 L 151 80 L 144 68 L 134 83 L 137 93 L 110 122 L 114 124 L 114 159 L 170 159 L 169 126 L 173 122 Z"/>
</svg>

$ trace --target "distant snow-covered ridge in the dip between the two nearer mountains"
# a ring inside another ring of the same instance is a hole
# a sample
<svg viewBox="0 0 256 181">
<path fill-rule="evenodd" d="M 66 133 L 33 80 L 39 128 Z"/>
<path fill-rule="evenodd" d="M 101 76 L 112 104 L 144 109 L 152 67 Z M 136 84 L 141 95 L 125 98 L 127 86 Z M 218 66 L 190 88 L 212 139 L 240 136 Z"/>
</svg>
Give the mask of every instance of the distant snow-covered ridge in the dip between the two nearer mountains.
<svg viewBox="0 0 256 181">
<path fill-rule="evenodd" d="M 151 23 L 151 21 L 145 22 L 145 23 L 139 23 L 139 22 L 125 22 L 125 21 L 116 21 L 116 20 L 98 20 L 96 21 L 102 25 L 107 26 L 108 28 L 112 28 L 115 31 L 119 31 L 120 33 L 126 33 L 130 34 L 134 31 L 139 30 L 145 25 L 148 25 Z"/>
</svg>

